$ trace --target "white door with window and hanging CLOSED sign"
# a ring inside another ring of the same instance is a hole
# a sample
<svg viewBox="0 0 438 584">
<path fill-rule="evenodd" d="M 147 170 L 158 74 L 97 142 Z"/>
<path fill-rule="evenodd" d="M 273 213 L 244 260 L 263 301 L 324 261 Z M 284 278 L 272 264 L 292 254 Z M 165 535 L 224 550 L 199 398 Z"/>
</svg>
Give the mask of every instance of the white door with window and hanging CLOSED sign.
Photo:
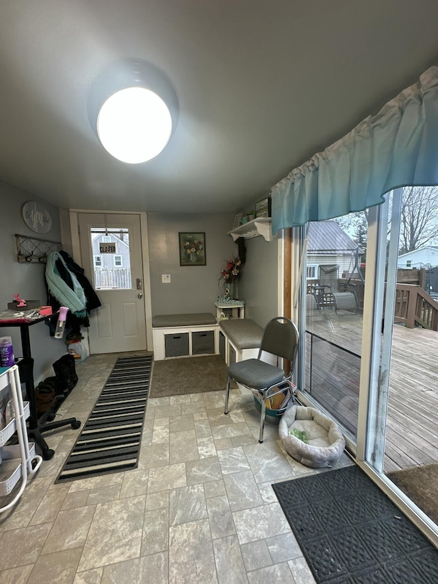
<svg viewBox="0 0 438 584">
<path fill-rule="evenodd" d="M 83 268 L 101 307 L 92 310 L 90 353 L 146 350 L 140 216 L 79 213 Z"/>
</svg>

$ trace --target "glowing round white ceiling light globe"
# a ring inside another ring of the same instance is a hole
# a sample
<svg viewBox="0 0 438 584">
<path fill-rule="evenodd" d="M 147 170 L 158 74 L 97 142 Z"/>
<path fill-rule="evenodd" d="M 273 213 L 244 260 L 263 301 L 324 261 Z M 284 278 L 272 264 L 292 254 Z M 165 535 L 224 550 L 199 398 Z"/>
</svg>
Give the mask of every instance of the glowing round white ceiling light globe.
<svg viewBox="0 0 438 584">
<path fill-rule="evenodd" d="M 107 152 L 122 162 L 139 164 L 166 147 L 172 134 L 172 116 L 155 92 L 128 87 L 103 103 L 96 126 Z"/>
</svg>

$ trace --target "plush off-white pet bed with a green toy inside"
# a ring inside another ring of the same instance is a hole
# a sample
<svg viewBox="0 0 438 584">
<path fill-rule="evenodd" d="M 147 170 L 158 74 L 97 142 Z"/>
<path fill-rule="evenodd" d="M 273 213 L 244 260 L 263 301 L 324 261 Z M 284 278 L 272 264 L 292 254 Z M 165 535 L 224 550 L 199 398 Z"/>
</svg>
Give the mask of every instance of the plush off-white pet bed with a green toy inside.
<svg viewBox="0 0 438 584">
<path fill-rule="evenodd" d="M 290 434 L 294 429 L 307 433 L 308 444 Z M 345 448 L 338 425 L 313 407 L 289 407 L 281 417 L 279 435 L 292 458 L 314 468 L 332 466 Z"/>
</svg>

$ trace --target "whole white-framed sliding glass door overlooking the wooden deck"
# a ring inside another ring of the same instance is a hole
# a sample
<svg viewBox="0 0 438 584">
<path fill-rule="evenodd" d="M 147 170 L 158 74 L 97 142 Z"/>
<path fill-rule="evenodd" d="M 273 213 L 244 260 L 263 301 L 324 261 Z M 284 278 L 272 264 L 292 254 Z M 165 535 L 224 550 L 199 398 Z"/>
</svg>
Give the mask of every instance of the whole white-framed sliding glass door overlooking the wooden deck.
<svg viewBox="0 0 438 584">
<path fill-rule="evenodd" d="M 417 491 L 427 480 L 436 507 L 438 305 L 421 268 L 418 281 L 400 268 L 405 199 L 394 190 L 362 214 L 295 230 L 298 395 L 342 427 L 357 463 L 437 544 Z"/>
</svg>

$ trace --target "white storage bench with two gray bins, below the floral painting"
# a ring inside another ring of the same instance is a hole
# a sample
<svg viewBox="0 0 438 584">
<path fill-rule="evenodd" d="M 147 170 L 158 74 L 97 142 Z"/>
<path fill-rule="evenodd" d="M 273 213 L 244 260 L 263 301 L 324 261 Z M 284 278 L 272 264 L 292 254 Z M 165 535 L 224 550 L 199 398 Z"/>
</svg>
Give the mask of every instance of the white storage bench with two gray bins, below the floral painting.
<svg viewBox="0 0 438 584">
<path fill-rule="evenodd" d="M 219 325 L 210 312 L 159 314 L 152 319 L 155 361 L 218 353 Z"/>
</svg>

